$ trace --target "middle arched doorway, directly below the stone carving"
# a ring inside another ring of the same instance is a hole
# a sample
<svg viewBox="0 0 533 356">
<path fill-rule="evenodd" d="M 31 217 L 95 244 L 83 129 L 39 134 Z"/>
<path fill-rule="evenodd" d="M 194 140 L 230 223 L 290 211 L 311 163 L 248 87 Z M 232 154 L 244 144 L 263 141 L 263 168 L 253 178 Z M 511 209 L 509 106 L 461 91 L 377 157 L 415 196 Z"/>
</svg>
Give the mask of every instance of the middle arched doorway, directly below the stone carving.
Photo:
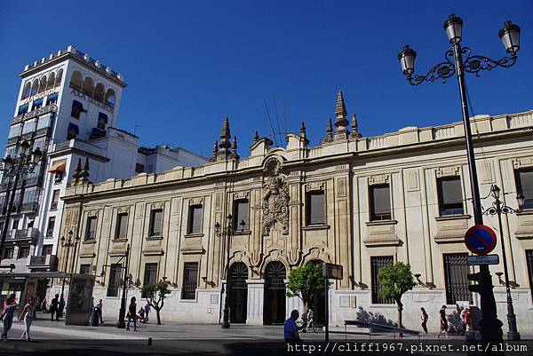
<svg viewBox="0 0 533 356">
<path fill-rule="evenodd" d="M 282 324 L 285 321 L 286 277 L 287 272 L 282 262 L 270 262 L 265 268 L 264 324 Z"/>
</svg>

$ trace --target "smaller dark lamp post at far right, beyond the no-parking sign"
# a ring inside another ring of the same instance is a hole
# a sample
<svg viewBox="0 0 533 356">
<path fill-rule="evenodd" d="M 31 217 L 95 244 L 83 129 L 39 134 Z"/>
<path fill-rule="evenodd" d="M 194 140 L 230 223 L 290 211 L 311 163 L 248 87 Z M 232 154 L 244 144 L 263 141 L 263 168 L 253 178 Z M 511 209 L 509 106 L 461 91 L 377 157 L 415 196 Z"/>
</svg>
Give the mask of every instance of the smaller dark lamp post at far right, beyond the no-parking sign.
<svg viewBox="0 0 533 356">
<path fill-rule="evenodd" d="M 525 198 L 523 194 L 518 194 L 518 196 L 516 197 L 518 201 L 518 209 L 515 210 L 504 205 L 499 200 L 500 188 L 498 186 L 491 186 L 490 193 L 492 194 L 492 197 L 495 199 L 495 201 L 492 203 L 492 206 L 489 209 L 483 211 L 483 214 L 487 216 L 497 215 L 497 224 L 500 233 L 500 243 L 502 245 L 502 257 L 504 259 L 505 291 L 507 295 L 507 324 L 509 327 L 509 331 L 507 331 L 507 338 L 509 340 L 518 341 L 520 340 L 520 333 L 516 328 L 516 315 L 514 314 L 513 298 L 511 297 L 511 288 L 509 286 L 509 272 L 507 270 L 507 257 L 505 256 L 505 241 L 504 229 L 502 225 L 502 214 L 506 215 L 521 212 Z"/>
</svg>

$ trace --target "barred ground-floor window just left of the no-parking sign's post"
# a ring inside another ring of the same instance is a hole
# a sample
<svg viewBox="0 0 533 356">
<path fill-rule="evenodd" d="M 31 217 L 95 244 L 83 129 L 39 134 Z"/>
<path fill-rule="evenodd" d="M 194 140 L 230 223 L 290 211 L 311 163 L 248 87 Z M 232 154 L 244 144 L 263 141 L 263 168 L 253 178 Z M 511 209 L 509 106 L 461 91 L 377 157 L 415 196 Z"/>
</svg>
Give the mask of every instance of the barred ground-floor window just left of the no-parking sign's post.
<svg viewBox="0 0 533 356">
<path fill-rule="evenodd" d="M 457 301 L 473 303 L 472 292 L 468 290 L 470 281 L 466 277 L 469 273 L 466 264 L 467 253 L 445 254 L 444 283 L 446 285 L 446 304 L 455 305 Z"/>
</svg>

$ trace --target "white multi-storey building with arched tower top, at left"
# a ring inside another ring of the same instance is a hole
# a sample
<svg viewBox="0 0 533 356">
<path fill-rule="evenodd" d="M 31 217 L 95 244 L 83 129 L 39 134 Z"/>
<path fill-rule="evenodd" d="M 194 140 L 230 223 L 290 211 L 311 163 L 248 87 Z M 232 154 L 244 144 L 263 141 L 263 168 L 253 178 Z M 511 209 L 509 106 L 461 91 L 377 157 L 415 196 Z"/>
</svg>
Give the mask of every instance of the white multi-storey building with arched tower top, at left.
<svg viewBox="0 0 533 356">
<path fill-rule="evenodd" d="M 8 222 L 4 220 L 12 179 L 0 182 L 0 222 L 9 229 L 2 252 L 4 268 L 14 265 L 14 272 L 57 269 L 63 236 L 60 197 L 78 162 L 87 161 L 88 179 L 97 183 L 207 161 L 180 147 L 139 146 L 136 135 L 118 129 L 126 88 L 123 75 L 74 46 L 27 65 L 20 78 L 4 156 L 14 158 L 17 145 L 28 141 L 32 149 L 44 152 L 44 158 L 20 178 Z M 19 281 L 4 279 L 3 294 L 20 287 Z"/>
</svg>

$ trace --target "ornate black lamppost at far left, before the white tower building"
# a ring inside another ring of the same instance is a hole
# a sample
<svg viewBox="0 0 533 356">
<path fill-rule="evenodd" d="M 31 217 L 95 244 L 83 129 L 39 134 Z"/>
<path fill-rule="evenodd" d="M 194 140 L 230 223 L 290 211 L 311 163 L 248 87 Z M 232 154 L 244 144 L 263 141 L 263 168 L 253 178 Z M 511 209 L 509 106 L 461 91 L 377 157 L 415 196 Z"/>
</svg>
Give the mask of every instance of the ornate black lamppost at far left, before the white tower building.
<svg viewBox="0 0 533 356">
<path fill-rule="evenodd" d="M 4 257 L 4 244 L 5 237 L 9 231 L 9 223 L 13 209 L 13 202 L 15 200 L 15 194 L 17 192 L 17 186 L 19 184 L 19 179 L 22 178 L 25 174 L 31 173 L 35 170 L 36 165 L 39 164 L 43 158 L 43 152 L 39 147 L 36 147 L 33 151 L 29 151 L 29 142 L 22 141 L 20 144 L 17 144 L 15 147 L 15 157 L 12 158 L 11 155 L 7 155 L 4 160 L 2 160 L 2 168 L 0 172 L 2 173 L 2 180 L 5 178 L 14 178 L 12 185 L 12 192 L 9 196 L 9 203 L 7 205 L 7 210 L 5 213 L 4 228 L 2 229 L 2 237 L 0 238 L 0 261 Z"/>
</svg>

